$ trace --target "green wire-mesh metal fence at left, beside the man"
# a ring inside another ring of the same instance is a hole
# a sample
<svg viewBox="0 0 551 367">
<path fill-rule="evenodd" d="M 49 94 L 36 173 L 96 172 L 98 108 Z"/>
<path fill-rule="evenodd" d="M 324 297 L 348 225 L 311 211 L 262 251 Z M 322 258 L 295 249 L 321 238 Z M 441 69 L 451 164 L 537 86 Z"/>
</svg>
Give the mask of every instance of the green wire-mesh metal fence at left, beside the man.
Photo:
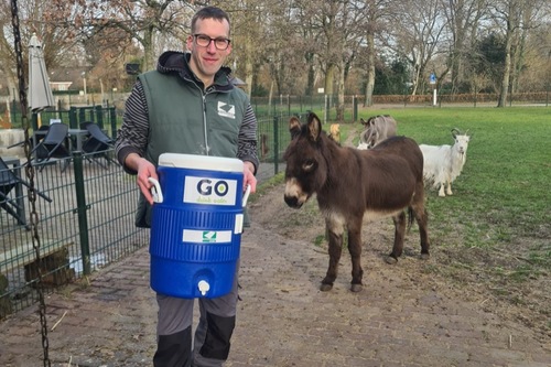
<svg viewBox="0 0 551 367">
<path fill-rule="evenodd" d="M 112 153 L 112 152 L 111 152 Z M 134 177 L 111 163 L 107 169 L 76 153 L 62 172 L 62 161 L 35 170 L 34 185 L 52 202 L 36 196 L 33 215 L 28 190 L 9 193 L 23 203 L 23 217 L 39 219 L 41 263 L 35 262 L 33 231 L 0 208 L 0 319 L 37 302 L 42 269 L 45 291 L 115 262 L 149 242 L 149 231 L 134 227 L 138 199 Z M 97 158 L 102 159 L 102 158 Z M 23 180 L 25 170 L 12 169 Z M 34 245 L 37 242 L 34 241 Z"/>
</svg>

